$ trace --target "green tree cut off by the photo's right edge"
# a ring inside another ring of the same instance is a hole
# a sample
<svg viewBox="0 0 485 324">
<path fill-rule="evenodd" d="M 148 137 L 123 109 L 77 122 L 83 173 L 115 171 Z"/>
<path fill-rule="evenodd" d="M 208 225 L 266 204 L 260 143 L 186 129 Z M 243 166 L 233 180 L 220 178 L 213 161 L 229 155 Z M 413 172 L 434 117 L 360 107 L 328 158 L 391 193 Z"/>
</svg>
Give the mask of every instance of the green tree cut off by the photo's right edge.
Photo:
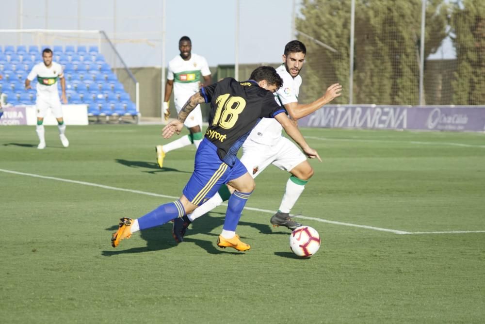
<svg viewBox="0 0 485 324">
<path fill-rule="evenodd" d="M 452 81 L 453 104 L 485 104 L 485 1 L 464 0 L 452 13 L 457 71 Z"/>
</svg>

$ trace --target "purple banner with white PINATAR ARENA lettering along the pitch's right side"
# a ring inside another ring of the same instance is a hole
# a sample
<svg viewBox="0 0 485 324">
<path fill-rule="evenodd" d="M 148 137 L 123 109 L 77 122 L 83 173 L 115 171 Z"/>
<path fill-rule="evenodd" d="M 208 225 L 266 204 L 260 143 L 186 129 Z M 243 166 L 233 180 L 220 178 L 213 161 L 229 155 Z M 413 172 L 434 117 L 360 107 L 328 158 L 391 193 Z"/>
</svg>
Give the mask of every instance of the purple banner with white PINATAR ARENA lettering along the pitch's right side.
<svg viewBox="0 0 485 324">
<path fill-rule="evenodd" d="M 298 120 L 300 127 L 485 131 L 485 106 L 328 105 Z"/>
</svg>

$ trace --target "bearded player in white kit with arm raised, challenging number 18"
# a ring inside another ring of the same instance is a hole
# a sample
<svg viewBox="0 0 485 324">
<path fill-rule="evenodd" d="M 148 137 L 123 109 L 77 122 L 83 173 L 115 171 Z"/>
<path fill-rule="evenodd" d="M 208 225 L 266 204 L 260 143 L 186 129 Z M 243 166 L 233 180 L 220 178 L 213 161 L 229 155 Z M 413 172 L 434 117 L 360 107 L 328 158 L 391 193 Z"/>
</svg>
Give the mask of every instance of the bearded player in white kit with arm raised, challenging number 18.
<svg viewBox="0 0 485 324">
<path fill-rule="evenodd" d="M 299 104 L 298 94 L 302 83 L 299 73 L 305 62 L 306 53 L 307 49 L 302 42 L 297 40 L 289 42 L 285 46 L 283 64 L 276 69 L 283 79 L 283 86 L 276 91 L 275 99 L 285 107 L 295 123 L 298 119 L 339 97 L 342 89 L 338 83 L 332 84 L 322 97 L 306 105 Z M 292 230 L 301 224 L 290 218 L 290 210 L 313 175 L 313 168 L 295 144 L 281 135 L 281 130 L 282 128 L 273 123 L 270 118 L 262 118 L 242 145 L 241 162 L 253 178 L 256 178 L 269 164 L 291 173 L 278 212 L 271 217 L 270 222 L 274 226 L 285 226 Z M 228 199 L 229 195 L 227 187 L 223 186 L 219 193 L 199 206 L 192 214 L 176 219 L 172 229 L 174 239 L 182 242 L 189 224 L 195 218 L 219 206 Z"/>
</svg>

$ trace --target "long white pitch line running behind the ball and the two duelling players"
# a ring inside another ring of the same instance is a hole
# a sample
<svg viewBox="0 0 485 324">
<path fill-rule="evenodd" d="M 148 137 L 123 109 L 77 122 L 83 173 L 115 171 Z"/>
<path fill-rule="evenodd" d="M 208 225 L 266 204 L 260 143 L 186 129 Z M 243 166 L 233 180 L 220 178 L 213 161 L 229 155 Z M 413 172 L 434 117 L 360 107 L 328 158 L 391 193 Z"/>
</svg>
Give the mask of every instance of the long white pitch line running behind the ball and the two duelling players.
<svg viewBox="0 0 485 324">
<path fill-rule="evenodd" d="M 140 190 L 132 190 L 132 189 L 124 189 L 124 188 L 118 188 L 118 187 L 112 187 L 112 186 L 105 186 L 102 184 L 97 184 L 97 183 L 92 183 L 92 182 L 85 182 L 85 181 L 78 181 L 78 180 L 70 180 L 70 179 L 64 179 L 64 178 L 56 178 L 56 177 L 48 177 L 48 176 L 41 176 L 41 175 L 36 175 L 32 173 L 25 173 L 25 172 L 18 172 L 18 171 L 12 171 L 12 170 L 5 170 L 5 169 L 0 169 L 0 172 L 5 172 L 5 173 L 10 173 L 10 174 L 15 174 L 19 176 L 28 176 L 28 177 L 33 177 L 33 178 L 41 178 L 41 179 L 48 179 L 48 180 L 56 180 L 56 181 L 62 181 L 62 182 L 68 182 L 68 183 L 75 183 L 75 184 L 81 184 L 85 186 L 91 186 L 91 187 L 97 187 L 97 188 L 102 188 L 102 189 L 109 189 L 109 190 L 117 190 L 117 191 L 123 191 L 123 192 L 128 192 L 128 193 L 133 193 L 133 194 L 145 194 L 149 196 L 154 196 L 154 197 L 162 197 L 162 198 L 169 198 L 169 199 L 178 199 L 178 196 L 169 196 L 166 194 L 155 194 L 155 193 L 149 193 L 146 191 L 140 191 Z M 227 206 L 227 204 L 222 204 L 224 206 Z M 267 210 L 267 209 L 260 209 L 260 208 L 253 208 L 253 207 L 244 207 L 245 210 L 248 211 L 260 211 L 260 212 L 266 212 L 273 214 L 275 211 Z M 485 233 L 485 230 L 481 231 L 437 231 L 437 232 L 407 232 L 407 231 L 402 231 L 402 230 L 397 230 L 397 229 L 390 229 L 390 228 L 382 228 L 382 227 L 373 227 L 373 226 L 367 226 L 367 225 L 358 225 L 358 224 L 353 224 L 353 223 L 344 223 L 344 222 L 337 222 L 337 221 L 331 221 L 327 219 L 322 219 L 322 218 L 315 218 L 315 217 L 307 217 L 303 215 L 291 215 L 293 217 L 298 217 L 301 219 L 307 219 L 307 220 L 312 220 L 316 222 L 321 222 L 321 223 L 327 223 L 327 224 L 333 224 L 333 225 L 340 225 L 340 226 L 350 226 L 350 227 L 358 227 L 358 228 L 366 228 L 366 229 L 372 229 L 372 230 L 377 230 L 377 231 L 382 231 L 382 232 L 390 232 L 394 234 L 456 234 L 456 233 Z"/>
</svg>

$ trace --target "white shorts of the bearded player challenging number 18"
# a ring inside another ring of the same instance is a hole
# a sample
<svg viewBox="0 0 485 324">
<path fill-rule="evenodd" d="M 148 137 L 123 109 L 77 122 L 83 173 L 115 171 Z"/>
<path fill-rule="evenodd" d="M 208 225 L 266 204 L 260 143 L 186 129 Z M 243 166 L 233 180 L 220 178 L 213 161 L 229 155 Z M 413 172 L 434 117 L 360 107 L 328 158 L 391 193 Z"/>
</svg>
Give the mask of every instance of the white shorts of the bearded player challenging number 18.
<svg viewBox="0 0 485 324">
<path fill-rule="evenodd" d="M 259 144 L 247 139 L 242 145 L 241 162 L 253 178 L 270 164 L 290 172 L 307 160 L 305 154 L 288 138 L 281 137 L 273 146 Z"/>
</svg>

